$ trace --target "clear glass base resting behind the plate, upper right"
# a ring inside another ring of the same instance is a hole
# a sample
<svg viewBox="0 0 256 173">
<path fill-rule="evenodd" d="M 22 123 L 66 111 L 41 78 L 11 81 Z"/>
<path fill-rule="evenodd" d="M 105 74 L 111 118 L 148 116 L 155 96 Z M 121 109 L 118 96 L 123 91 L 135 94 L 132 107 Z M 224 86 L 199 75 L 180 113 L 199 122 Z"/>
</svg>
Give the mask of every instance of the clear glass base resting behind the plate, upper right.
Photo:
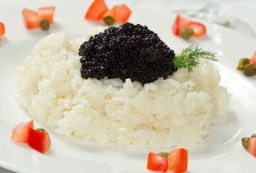
<svg viewBox="0 0 256 173">
<path fill-rule="evenodd" d="M 255 37 L 253 29 L 247 23 L 244 23 L 242 20 L 239 20 L 236 17 L 232 17 L 218 11 L 209 12 L 207 9 L 182 9 L 177 10 L 174 13 L 182 16 L 196 17 L 205 21 L 210 21 L 218 25 L 235 29 L 236 31 L 242 32 L 250 37 Z"/>
</svg>

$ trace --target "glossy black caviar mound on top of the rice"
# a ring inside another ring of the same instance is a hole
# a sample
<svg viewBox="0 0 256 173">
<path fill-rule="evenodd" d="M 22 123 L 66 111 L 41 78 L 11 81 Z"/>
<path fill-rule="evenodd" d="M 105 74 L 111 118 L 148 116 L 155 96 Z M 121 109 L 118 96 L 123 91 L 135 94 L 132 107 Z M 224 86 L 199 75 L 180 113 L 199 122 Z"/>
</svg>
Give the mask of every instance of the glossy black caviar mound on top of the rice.
<svg viewBox="0 0 256 173">
<path fill-rule="evenodd" d="M 79 49 L 82 78 L 130 78 L 147 84 L 177 69 L 175 53 L 147 26 L 124 23 L 90 37 Z"/>
</svg>

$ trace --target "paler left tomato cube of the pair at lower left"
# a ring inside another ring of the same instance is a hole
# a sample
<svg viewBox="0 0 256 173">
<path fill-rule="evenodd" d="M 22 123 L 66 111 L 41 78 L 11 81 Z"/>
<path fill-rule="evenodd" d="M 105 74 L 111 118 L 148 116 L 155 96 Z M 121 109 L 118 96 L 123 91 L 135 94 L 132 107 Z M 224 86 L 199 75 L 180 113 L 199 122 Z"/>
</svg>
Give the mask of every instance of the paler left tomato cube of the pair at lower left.
<svg viewBox="0 0 256 173">
<path fill-rule="evenodd" d="M 28 143 L 29 141 L 29 133 L 34 129 L 34 121 L 28 121 L 25 123 L 18 124 L 12 130 L 12 138 L 11 141 L 20 142 L 20 143 Z"/>
</svg>

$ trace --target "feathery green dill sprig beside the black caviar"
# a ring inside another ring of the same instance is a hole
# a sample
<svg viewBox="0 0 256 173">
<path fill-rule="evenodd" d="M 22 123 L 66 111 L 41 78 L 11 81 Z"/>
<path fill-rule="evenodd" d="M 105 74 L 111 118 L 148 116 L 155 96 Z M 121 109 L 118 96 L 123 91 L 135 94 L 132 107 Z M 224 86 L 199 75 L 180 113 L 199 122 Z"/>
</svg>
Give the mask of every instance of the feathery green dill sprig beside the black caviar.
<svg viewBox="0 0 256 173">
<path fill-rule="evenodd" d="M 215 59 L 216 53 L 204 51 L 202 47 L 198 45 L 191 45 L 186 49 L 183 49 L 181 55 L 176 56 L 173 59 L 174 66 L 177 69 L 184 68 L 188 69 L 188 72 L 193 72 L 193 67 L 198 67 L 201 58 L 205 58 L 212 61 L 218 61 Z"/>
</svg>

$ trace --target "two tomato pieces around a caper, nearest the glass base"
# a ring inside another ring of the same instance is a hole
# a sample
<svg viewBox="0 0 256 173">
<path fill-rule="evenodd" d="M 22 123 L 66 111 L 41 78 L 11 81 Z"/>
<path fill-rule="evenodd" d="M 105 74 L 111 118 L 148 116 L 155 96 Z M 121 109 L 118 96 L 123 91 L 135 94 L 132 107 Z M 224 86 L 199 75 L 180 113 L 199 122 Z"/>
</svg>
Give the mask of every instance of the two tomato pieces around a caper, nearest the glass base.
<svg viewBox="0 0 256 173">
<path fill-rule="evenodd" d="M 206 35 L 206 27 L 202 23 L 193 22 L 185 17 L 181 17 L 180 14 L 177 14 L 175 22 L 172 25 L 172 32 L 176 36 L 182 36 L 181 31 L 183 28 L 190 28 L 193 30 L 193 35 L 195 37 L 201 37 Z M 185 37 L 185 39 L 188 39 Z"/>
</svg>

